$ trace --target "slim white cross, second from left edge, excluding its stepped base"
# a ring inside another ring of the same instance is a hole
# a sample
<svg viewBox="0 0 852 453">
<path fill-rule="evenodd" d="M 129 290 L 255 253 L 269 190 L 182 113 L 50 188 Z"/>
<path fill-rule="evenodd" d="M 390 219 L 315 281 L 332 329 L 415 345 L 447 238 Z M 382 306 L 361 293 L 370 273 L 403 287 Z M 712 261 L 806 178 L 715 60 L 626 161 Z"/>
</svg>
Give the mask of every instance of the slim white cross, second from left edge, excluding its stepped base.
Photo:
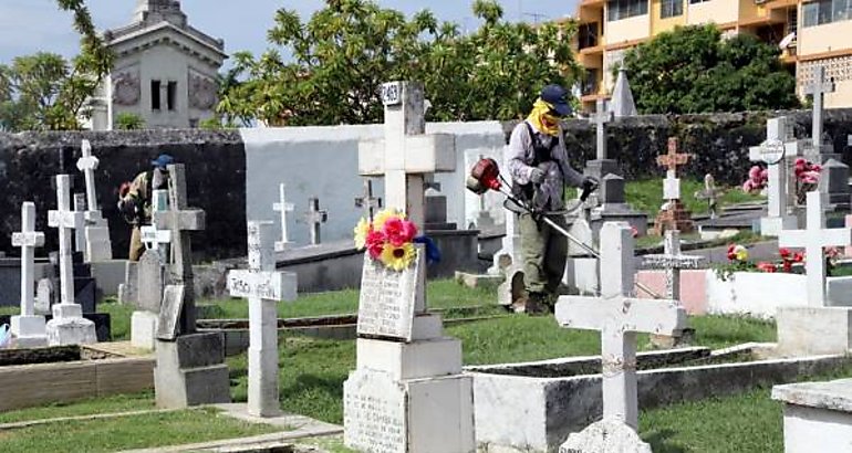
<svg viewBox="0 0 852 453">
<path fill-rule="evenodd" d="M 71 262 L 72 230 L 82 228 L 84 213 L 71 210 L 71 177 L 56 176 L 56 210 L 48 211 L 48 225 L 59 229 L 60 302 L 74 304 L 74 267 Z"/>
</svg>

